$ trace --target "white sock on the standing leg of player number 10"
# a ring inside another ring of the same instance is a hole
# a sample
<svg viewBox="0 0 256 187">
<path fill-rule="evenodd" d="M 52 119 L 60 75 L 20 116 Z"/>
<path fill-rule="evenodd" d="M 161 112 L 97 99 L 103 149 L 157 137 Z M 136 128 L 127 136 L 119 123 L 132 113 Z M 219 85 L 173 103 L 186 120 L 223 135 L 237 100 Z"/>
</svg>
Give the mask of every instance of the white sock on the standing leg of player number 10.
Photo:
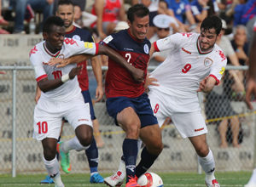
<svg viewBox="0 0 256 187">
<path fill-rule="evenodd" d="M 55 186 L 57 187 L 64 186 L 64 184 L 61 181 L 59 161 L 57 160 L 57 158 L 55 157 L 51 161 L 46 161 L 43 156 L 43 160 L 44 160 L 44 165 L 46 167 L 49 177 L 51 177 L 55 181 Z"/>
</svg>

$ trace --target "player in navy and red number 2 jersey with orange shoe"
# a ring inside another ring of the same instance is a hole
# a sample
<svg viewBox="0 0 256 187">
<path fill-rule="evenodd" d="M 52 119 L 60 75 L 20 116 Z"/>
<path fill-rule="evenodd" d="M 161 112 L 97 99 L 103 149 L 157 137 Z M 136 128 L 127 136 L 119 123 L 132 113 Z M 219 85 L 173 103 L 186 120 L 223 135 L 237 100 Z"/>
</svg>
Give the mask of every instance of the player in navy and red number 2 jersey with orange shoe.
<svg viewBox="0 0 256 187">
<path fill-rule="evenodd" d="M 151 43 L 146 38 L 149 27 L 148 14 L 148 8 L 143 4 L 132 6 L 127 13 L 129 29 L 113 33 L 102 42 L 121 54 L 127 60 L 127 65 L 143 70 L 145 75 L 151 47 Z M 75 59 L 67 59 L 64 60 L 64 64 L 75 61 Z M 148 95 L 144 93 L 144 83 L 135 81 L 129 71 L 110 57 L 105 91 L 108 114 L 113 116 L 116 124 L 126 133 L 123 142 L 125 187 L 140 187 L 137 178 L 153 165 L 163 149 L 160 127 L 151 109 Z M 136 167 L 139 137 L 145 147 L 141 161 Z"/>
</svg>

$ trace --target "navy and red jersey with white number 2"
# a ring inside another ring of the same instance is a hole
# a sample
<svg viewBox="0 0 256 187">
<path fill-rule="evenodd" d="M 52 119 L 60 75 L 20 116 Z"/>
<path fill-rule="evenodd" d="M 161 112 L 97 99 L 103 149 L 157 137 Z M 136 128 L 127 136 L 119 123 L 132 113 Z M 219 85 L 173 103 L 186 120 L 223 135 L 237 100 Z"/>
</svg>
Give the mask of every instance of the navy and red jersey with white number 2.
<svg viewBox="0 0 256 187">
<path fill-rule="evenodd" d="M 149 50 L 151 43 L 147 38 L 140 41 L 131 36 L 128 30 L 122 30 L 106 37 L 103 42 L 121 54 L 129 64 L 144 71 L 147 75 Z M 136 98 L 145 91 L 144 83 L 137 83 L 131 73 L 118 65 L 113 59 L 108 59 L 108 71 L 105 91 L 107 98 L 125 96 Z"/>
</svg>

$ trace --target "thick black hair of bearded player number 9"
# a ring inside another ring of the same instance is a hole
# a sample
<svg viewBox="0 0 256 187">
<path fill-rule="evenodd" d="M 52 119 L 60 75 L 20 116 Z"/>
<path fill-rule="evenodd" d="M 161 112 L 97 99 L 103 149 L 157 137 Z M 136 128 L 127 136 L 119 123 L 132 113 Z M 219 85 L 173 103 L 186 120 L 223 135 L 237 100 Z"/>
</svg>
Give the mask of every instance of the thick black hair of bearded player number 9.
<svg viewBox="0 0 256 187">
<path fill-rule="evenodd" d="M 212 28 L 215 29 L 217 35 L 222 29 L 222 22 L 216 15 L 208 16 L 201 22 L 201 29 L 210 30 Z"/>
</svg>

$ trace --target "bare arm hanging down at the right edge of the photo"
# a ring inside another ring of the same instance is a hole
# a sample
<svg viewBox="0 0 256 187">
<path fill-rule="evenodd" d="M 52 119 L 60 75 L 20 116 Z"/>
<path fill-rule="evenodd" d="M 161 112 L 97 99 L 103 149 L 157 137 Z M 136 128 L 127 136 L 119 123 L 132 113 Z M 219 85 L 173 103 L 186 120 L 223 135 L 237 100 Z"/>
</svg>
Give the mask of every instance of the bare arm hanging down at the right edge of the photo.
<svg viewBox="0 0 256 187">
<path fill-rule="evenodd" d="M 247 91 L 246 91 L 246 103 L 249 109 L 253 109 L 251 104 L 251 97 L 256 97 L 256 31 L 253 33 L 253 42 L 250 48 L 249 54 L 249 69 L 247 78 Z"/>
</svg>

